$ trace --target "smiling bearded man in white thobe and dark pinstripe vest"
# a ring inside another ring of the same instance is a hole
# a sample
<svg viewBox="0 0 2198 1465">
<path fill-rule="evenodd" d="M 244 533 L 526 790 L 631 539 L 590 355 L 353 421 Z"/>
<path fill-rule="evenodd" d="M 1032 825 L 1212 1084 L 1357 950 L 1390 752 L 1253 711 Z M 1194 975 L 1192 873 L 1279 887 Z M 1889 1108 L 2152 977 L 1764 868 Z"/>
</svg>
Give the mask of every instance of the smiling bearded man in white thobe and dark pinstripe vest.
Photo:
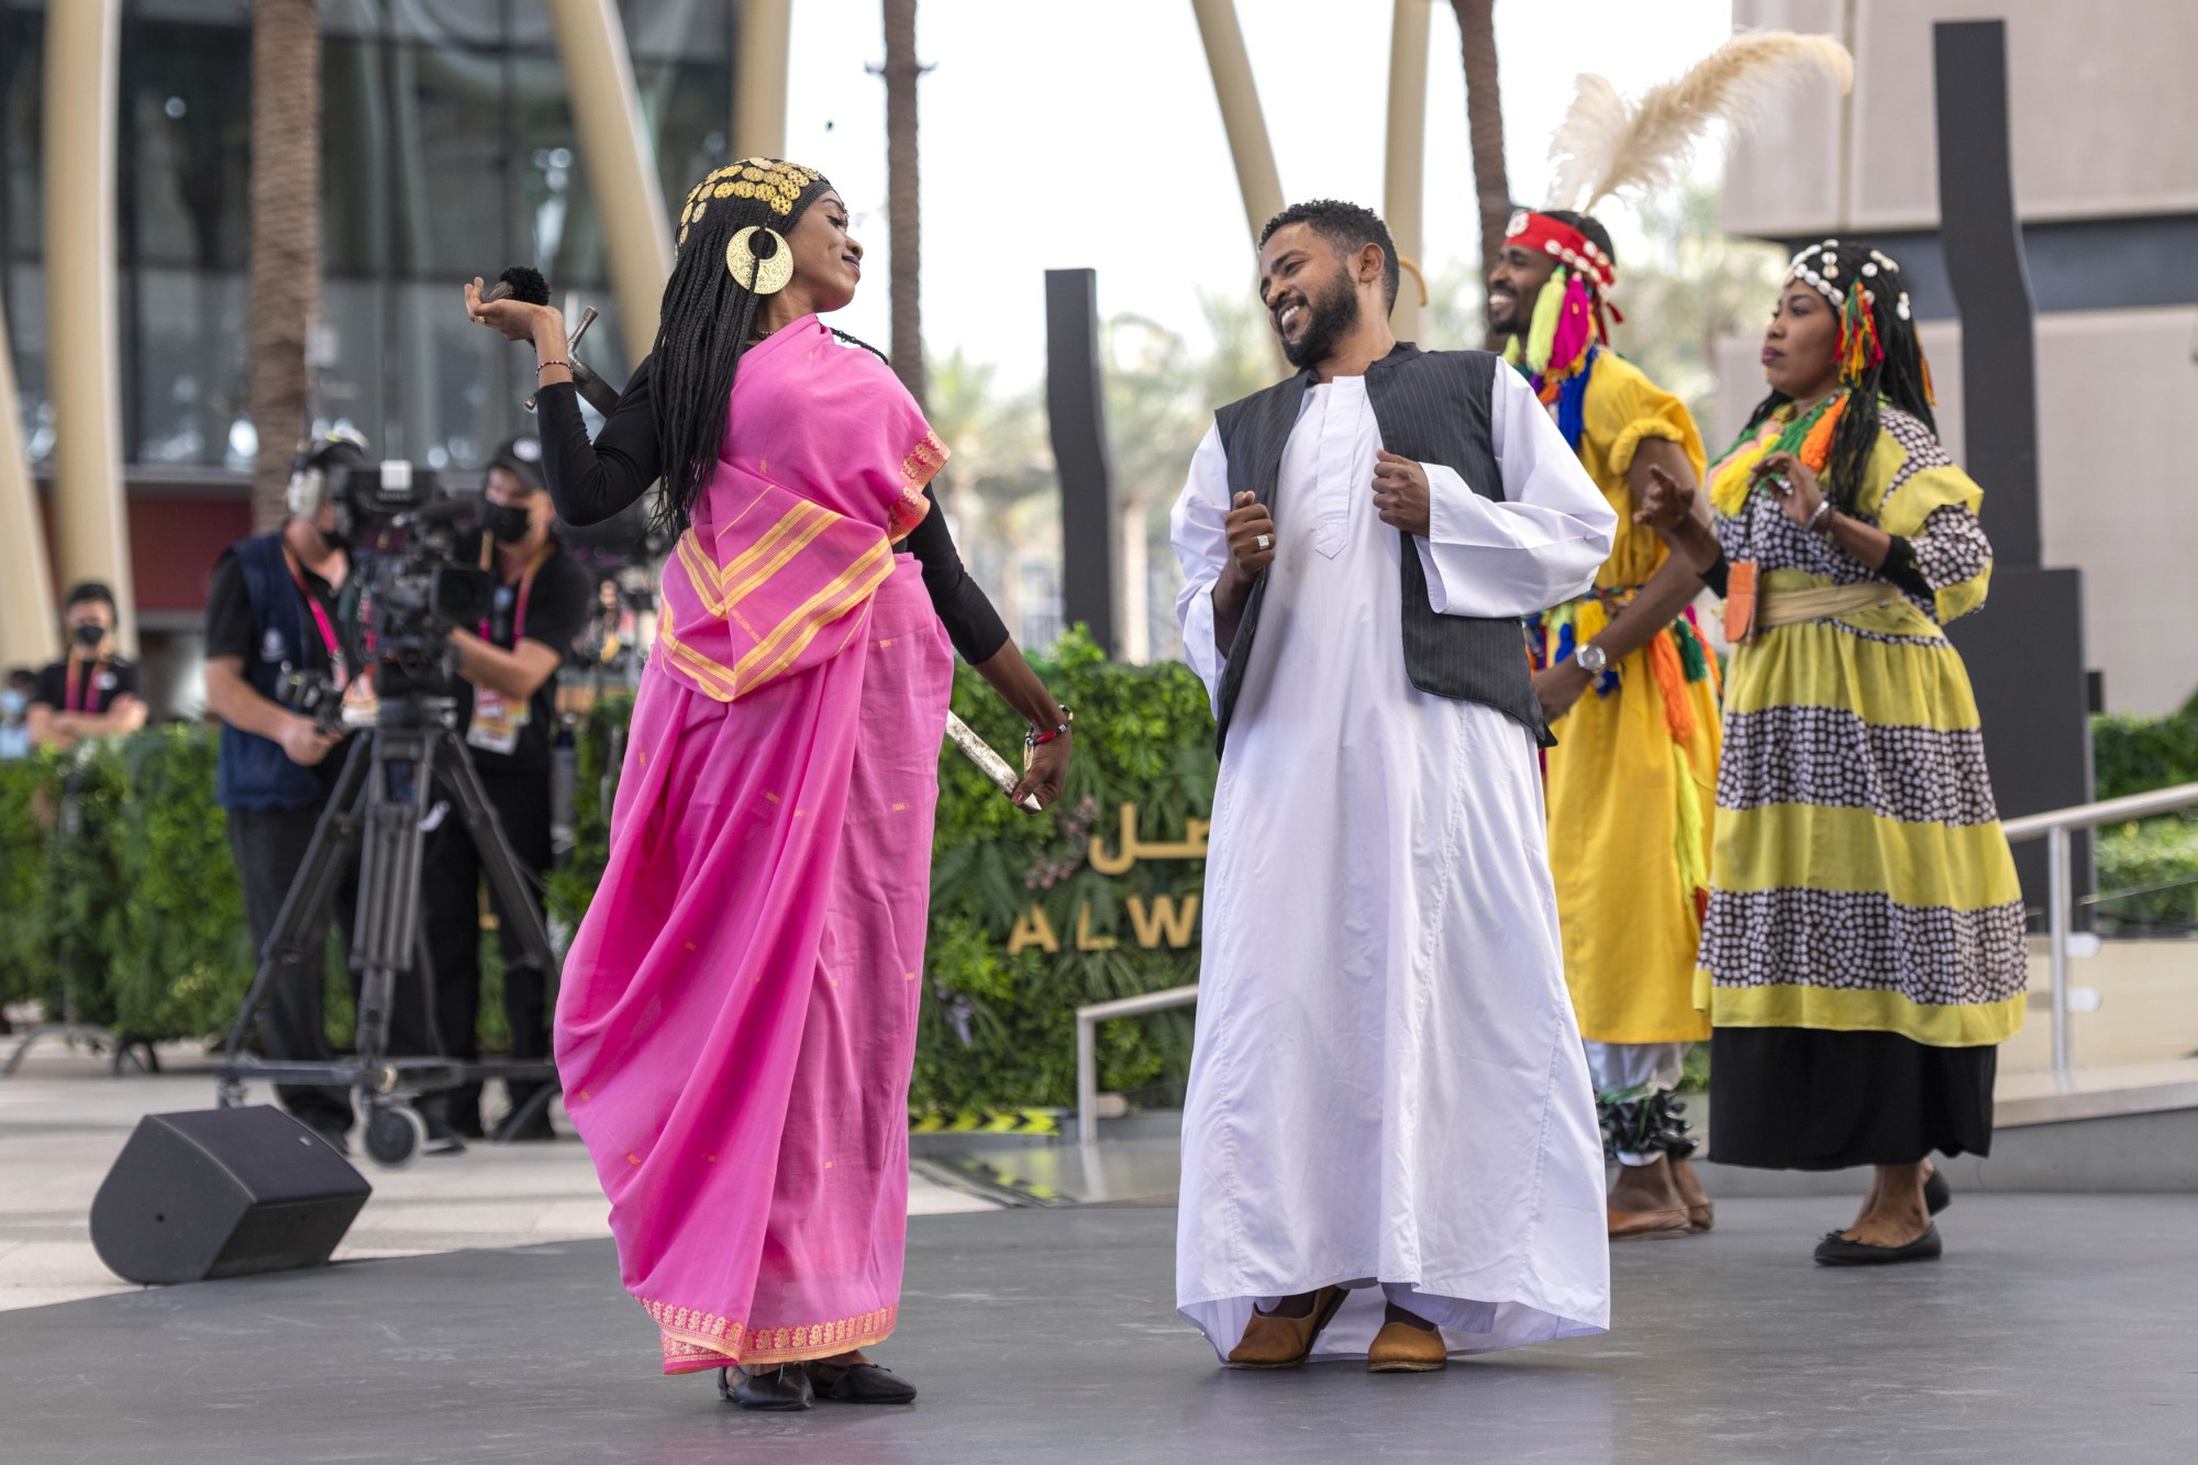
<svg viewBox="0 0 2198 1465">
<path fill-rule="evenodd" d="M 1268 224 L 1301 374 L 1218 414 L 1172 519 L 1224 737 L 1176 1302 L 1242 1368 L 1609 1322 L 1517 618 L 1616 517 L 1512 370 L 1396 343 L 1396 268 L 1354 205 Z"/>
</svg>

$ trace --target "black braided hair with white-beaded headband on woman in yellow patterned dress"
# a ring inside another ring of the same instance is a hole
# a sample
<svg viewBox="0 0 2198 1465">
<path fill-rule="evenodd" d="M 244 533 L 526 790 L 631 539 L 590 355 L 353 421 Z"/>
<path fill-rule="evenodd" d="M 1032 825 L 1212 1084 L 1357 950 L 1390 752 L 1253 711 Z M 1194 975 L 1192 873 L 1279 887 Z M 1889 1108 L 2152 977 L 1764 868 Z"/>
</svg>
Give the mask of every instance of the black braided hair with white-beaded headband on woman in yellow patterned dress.
<svg viewBox="0 0 2198 1465">
<path fill-rule="evenodd" d="M 1932 411 L 1930 367 L 1923 363 L 1923 343 L 1910 319 L 1901 266 L 1888 255 L 1868 244 L 1824 240 L 1794 255 L 1785 284 L 1778 288 L 1785 290 L 1796 279 L 1813 286 L 1842 321 L 1835 352 L 1840 385 L 1849 398 L 1838 427 L 1831 429 L 1824 495 L 1842 513 L 1855 513 L 1855 499 L 1868 477 L 1870 453 L 1877 449 L 1877 431 L 1884 425 L 1881 403 L 1917 418 L 1932 433 L 1939 431 L 1939 418 Z M 1840 301 L 1831 299 L 1833 293 L 1840 295 Z M 1864 310 L 1868 328 L 1877 334 L 1879 352 L 1849 350 L 1851 337 L 1862 330 L 1860 312 Z M 1765 396 L 1756 403 L 1741 436 L 1754 433 L 1765 418 L 1791 400 L 1785 392 Z"/>
</svg>

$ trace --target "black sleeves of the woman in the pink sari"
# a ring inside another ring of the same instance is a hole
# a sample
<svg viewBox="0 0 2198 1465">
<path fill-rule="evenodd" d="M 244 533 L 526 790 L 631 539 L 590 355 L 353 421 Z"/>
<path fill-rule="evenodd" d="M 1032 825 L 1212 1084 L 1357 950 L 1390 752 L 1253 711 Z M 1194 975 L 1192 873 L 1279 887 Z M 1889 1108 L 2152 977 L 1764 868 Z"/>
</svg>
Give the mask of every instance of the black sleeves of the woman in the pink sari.
<svg viewBox="0 0 2198 1465">
<path fill-rule="evenodd" d="M 626 383 L 624 396 L 593 442 L 587 440 L 587 422 L 580 418 L 580 389 L 569 381 L 543 387 L 536 409 L 543 477 L 565 524 L 600 524 L 648 493 L 648 486 L 664 475 L 648 361 L 633 370 L 633 381 Z M 910 530 L 906 548 L 923 565 L 923 590 L 930 592 L 947 638 L 974 667 L 1007 645 L 1007 625 L 963 568 L 930 486 L 923 488 L 923 497 L 932 508 L 923 515 L 923 524 Z"/>
</svg>

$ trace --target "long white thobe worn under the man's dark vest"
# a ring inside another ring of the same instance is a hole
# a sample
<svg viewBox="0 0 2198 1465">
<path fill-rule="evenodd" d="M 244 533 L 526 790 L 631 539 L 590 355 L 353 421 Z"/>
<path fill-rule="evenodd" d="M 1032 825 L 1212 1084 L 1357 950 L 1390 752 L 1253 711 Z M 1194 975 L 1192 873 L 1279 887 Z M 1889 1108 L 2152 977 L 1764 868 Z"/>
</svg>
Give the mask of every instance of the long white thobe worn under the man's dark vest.
<svg viewBox="0 0 2198 1465">
<path fill-rule="evenodd" d="M 1528 385 L 1499 370 L 1490 407 L 1501 502 L 1427 464 L 1413 546 L 1440 614 L 1556 605 L 1611 550 L 1616 515 Z M 1317 1353 L 1365 1353 L 1385 1296 L 1455 1353 L 1609 1324 L 1534 735 L 1405 675 L 1378 447 L 1363 376 L 1306 392 L 1213 792 L 1176 1304 L 1222 1357 L 1255 1302 L 1334 1282 L 1356 1289 Z M 1172 519 L 1209 691 L 1226 513 L 1209 431 Z"/>
</svg>

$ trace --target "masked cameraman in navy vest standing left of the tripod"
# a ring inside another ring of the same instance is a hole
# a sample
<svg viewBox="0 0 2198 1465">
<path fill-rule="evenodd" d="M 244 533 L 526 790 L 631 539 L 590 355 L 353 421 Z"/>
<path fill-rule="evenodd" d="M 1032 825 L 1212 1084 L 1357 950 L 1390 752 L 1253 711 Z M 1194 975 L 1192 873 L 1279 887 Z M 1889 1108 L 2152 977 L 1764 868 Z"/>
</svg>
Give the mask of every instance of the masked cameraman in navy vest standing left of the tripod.
<svg viewBox="0 0 2198 1465">
<path fill-rule="evenodd" d="M 222 719 L 215 798 L 229 809 L 229 849 L 244 884 L 244 915 L 257 957 L 275 928 L 290 882 L 306 864 L 312 831 L 343 776 L 341 735 L 288 706 L 290 680 L 343 686 L 358 667 L 356 636 L 345 636 L 338 596 L 352 574 L 349 508 L 341 484 L 365 466 L 356 438 L 306 449 L 290 471 L 290 517 L 279 530 L 231 546 L 213 563 L 207 592 L 207 711 Z M 356 869 L 336 886 L 345 948 L 358 895 Z M 319 937 L 319 939 L 314 939 Z M 268 1058 L 325 1062 L 328 915 L 308 933 L 303 961 L 275 979 L 264 1010 Z M 391 1054 L 433 1054 L 433 1027 L 418 990 L 402 983 L 391 1001 Z M 336 1150 L 349 1153 L 352 1095 L 338 1087 L 277 1084 L 284 1106 Z M 431 1126 L 424 1153 L 464 1148 Z"/>
</svg>

